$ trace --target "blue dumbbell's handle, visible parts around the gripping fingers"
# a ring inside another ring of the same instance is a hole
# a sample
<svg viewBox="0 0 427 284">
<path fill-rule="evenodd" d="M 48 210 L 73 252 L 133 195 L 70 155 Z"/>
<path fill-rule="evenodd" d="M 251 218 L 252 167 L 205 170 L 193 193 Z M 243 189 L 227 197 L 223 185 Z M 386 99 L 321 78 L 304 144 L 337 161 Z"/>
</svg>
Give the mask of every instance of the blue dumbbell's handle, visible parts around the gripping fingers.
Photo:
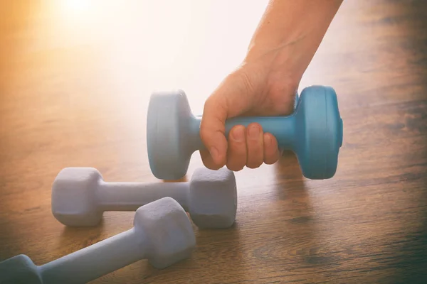
<svg viewBox="0 0 427 284">
<path fill-rule="evenodd" d="M 201 117 L 194 116 L 190 120 L 190 136 L 191 136 L 191 146 L 194 147 L 191 150 L 202 150 L 205 149 L 204 143 L 201 141 L 200 137 L 200 123 Z M 295 115 L 291 114 L 289 116 L 260 116 L 260 117 L 234 117 L 232 119 L 226 120 L 226 138 L 228 138 L 228 133 L 230 133 L 233 126 L 243 125 L 248 126 L 249 124 L 256 122 L 260 124 L 263 128 L 263 132 L 268 132 L 273 134 L 278 141 L 279 148 L 283 150 L 294 150 L 296 145 L 296 136 L 295 136 Z"/>
</svg>

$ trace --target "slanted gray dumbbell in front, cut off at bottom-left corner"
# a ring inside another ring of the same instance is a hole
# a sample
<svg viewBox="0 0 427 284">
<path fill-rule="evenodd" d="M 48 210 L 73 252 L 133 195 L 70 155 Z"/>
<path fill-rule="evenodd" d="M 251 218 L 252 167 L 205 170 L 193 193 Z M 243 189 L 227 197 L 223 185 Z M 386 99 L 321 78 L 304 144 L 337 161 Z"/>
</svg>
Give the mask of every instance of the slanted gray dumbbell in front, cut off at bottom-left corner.
<svg viewBox="0 0 427 284">
<path fill-rule="evenodd" d="M 23 254 L 0 262 L 0 283 L 87 283 L 146 258 L 162 269 L 189 258 L 195 246 L 186 212 L 165 197 L 139 207 L 132 229 L 43 266 Z"/>
</svg>

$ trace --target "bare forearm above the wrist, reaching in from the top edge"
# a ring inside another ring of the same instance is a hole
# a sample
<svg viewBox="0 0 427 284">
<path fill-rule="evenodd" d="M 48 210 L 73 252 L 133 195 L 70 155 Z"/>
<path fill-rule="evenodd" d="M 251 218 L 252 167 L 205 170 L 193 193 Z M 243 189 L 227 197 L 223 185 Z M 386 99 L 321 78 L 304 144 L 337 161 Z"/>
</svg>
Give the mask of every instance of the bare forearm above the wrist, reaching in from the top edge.
<svg viewBox="0 0 427 284">
<path fill-rule="evenodd" d="M 302 76 L 343 0 L 270 0 L 246 60 L 268 58 Z"/>
</svg>

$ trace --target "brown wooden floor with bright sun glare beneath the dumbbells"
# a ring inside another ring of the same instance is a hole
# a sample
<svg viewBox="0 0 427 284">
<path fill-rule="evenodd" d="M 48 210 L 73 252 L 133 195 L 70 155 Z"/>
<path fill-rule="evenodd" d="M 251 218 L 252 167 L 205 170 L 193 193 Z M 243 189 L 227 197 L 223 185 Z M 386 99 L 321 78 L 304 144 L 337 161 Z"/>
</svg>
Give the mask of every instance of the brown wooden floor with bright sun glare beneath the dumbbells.
<svg viewBox="0 0 427 284">
<path fill-rule="evenodd" d="M 92 166 L 107 181 L 159 182 L 149 94 L 184 89 L 200 114 L 267 1 L 96 3 L 1 1 L 0 261 L 40 265 L 130 229 L 133 212 L 65 228 L 51 214 L 56 174 Z M 427 1 L 344 1 L 301 88 L 311 84 L 339 94 L 334 178 L 302 178 L 290 154 L 244 169 L 233 228 L 194 226 L 188 260 L 93 283 L 427 283 Z M 195 153 L 187 177 L 201 165 Z"/>
</svg>

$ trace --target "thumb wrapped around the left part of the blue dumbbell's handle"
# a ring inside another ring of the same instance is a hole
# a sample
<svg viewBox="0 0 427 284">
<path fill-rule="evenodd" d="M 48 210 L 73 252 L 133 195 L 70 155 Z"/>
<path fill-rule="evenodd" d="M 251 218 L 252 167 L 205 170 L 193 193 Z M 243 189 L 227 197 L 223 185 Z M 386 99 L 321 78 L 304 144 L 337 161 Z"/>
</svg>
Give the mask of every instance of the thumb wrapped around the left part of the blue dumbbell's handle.
<svg viewBox="0 0 427 284">
<path fill-rule="evenodd" d="M 206 100 L 200 125 L 201 141 L 206 147 L 200 155 L 206 168 L 218 170 L 226 165 L 226 119 L 249 109 L 251 99 L 248 93 L 251 88 L 248 86 L 248 77 L 242 70 L 236 70 Z"/>
</svg>

